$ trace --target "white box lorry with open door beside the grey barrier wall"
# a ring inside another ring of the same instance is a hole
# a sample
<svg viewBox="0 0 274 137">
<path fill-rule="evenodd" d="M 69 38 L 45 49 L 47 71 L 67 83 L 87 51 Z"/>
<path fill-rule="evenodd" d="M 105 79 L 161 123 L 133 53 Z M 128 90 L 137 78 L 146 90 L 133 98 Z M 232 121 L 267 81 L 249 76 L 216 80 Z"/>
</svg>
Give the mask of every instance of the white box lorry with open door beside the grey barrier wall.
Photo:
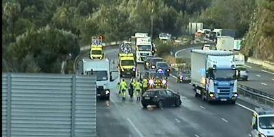
<svg viewBox="0 0 274 137">
<path fill-rule="evenodd" d="M 110 99 L 110 88 L 115 87 L 119 82 L 119 71 L 110 71 L 110 60 L 90 60 L 84 58 L 83 75 L 96 75 L 97 97 Z"/>
</svg>

